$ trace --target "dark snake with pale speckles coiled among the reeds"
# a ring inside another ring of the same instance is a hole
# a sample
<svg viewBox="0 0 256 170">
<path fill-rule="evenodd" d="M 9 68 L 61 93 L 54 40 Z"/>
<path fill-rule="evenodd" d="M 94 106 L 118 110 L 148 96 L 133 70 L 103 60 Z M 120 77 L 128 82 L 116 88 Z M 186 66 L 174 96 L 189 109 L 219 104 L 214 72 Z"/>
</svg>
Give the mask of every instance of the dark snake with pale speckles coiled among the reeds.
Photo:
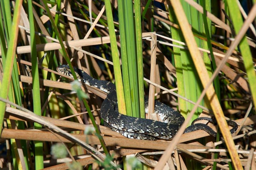
<svg viewBox="0 0 256 170">
<path fill-rule="evenodd" d="M 180 126 L 185 121 L 180 112 L 175 111 L 173 108 L 170 108 L 168 105 L 157 100 L 154 105 L 154 113 L 158 115 L 160 121 L 121 114 L 119 113 L 117 106 L 116 86 L 112 82 L 94 79 L 86 72 L 76 67 L 73 68 L 79 81 L 107 93 L 107 97 L 103 100 L 100 108 L 100 116 L 104 120 L 103 125 L 127 138 L 169 140 L 175 136 Z M 59 65 L 56 70 L 61 75 L 63 74 L 70 78 L 74 78 L 68 65 Z M 145 112 L 147 111 L 148 97 L 145 97 Z M 192 122 L 192 125 L 186 128 L 184 133 L 189 133 L 195 130 L 204 130 L 212 136 L 217 136 L 217 133 L 208 125 L 203 123 L 195 124 L 195 122 L 200 120 L 207 120 L 212 123 L 216 122 L 215 119 L 209 117 L 199 117 Z M 227 121 L 227 124 L 232 127 L 230 133 L 234 133 L 238 129 L 238 125 L 234 121 Z"/>
</svg>

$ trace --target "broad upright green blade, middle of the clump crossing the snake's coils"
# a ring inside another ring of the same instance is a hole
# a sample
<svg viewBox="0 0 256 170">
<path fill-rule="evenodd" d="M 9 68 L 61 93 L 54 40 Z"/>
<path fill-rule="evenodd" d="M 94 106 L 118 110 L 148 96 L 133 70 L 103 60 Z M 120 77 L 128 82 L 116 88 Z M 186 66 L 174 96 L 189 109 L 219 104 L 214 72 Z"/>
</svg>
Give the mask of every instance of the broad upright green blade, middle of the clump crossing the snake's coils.
<svg viewBox="0 0 256 170">
<path fill-rule="evenodd" d="M 120 1 L 119 1 L 120 2 Z M 132 1 L 125 1 L 122 0 L 122 11 L 123 12 L 122 18 L 119 18 L 121 21 L 120 24 L 124 24 L 121 28 L 120 33 L 121 41 L 122 38 L 125 40 L 124 48 L 126 51 L 126 55 L 122 56 L 122 60 L 127 60 L 127 65 L 124 63 L 122 64 L 122 74 L 123 74 L 123 82 L 125 89 L 125 102 L 126 99 L 131 99 L 131 112 L 127 112 L 129 116 L 139 117 L 139 98 L 138 98 L 138 79 L 137 79 L 137 59 L 136 59 L 136 43 L 135 43 L 135 32 L 134 32 L 134 12 L 133 12 L 133 3 Z M 123 34 L 124 33 L 124 34 Z M 123 42 L 123 41 L 122 41 Z M 122 43 L 121 42 L 121 43 Z M 124 49 L 122 48 L 122 49 Z M 121 51 L 122 51 L 121 49 Z M 125 58 L 126 57 L 126 58 Z M 129 102 L 129 101 L 128 101 Z M 128 108 L 128 106 L 126 106 Z"/>
</svg>

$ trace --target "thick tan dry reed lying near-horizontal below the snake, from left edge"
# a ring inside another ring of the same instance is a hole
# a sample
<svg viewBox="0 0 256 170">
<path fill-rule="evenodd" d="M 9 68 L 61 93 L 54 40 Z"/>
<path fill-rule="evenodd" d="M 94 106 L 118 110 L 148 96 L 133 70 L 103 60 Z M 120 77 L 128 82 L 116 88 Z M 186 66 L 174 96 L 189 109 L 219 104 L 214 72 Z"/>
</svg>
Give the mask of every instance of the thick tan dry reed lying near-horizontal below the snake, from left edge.
<svg viewBox="0 0 256 170">
<path fill-rule="evenodd" d="M 76 139 L 83 140 L 87 144 L 100 144 L 97 136 L 93 135 L 81 135 L 81 134 L 70 134 Z M 15 130 L 15 129 L 3 129 L 1 134 L 3 139 L 24 139 L 24 140 L 35 140 L 35 141 L 48 141 L 48 142 L 67 142 L 70 143 L 69 139 L 62 137 L 61 134 L 52 133 L 48 131 L 38 130 Z M 107 146 L 119 146 L 129 147 L 137 149 L 155 149 L 155 150 L 166 150 L 169 145 L 167 141 L 149 141 L 149 140 L 137 140 L 128 139 L 123 137 L 112 137 L 103 136 L 105 144 Z M 185 149 L 207 149 L 211 147 L 205 147 L 201 145 L 191 144 L 177 144 L 177 146 Z"/>
</svg>

